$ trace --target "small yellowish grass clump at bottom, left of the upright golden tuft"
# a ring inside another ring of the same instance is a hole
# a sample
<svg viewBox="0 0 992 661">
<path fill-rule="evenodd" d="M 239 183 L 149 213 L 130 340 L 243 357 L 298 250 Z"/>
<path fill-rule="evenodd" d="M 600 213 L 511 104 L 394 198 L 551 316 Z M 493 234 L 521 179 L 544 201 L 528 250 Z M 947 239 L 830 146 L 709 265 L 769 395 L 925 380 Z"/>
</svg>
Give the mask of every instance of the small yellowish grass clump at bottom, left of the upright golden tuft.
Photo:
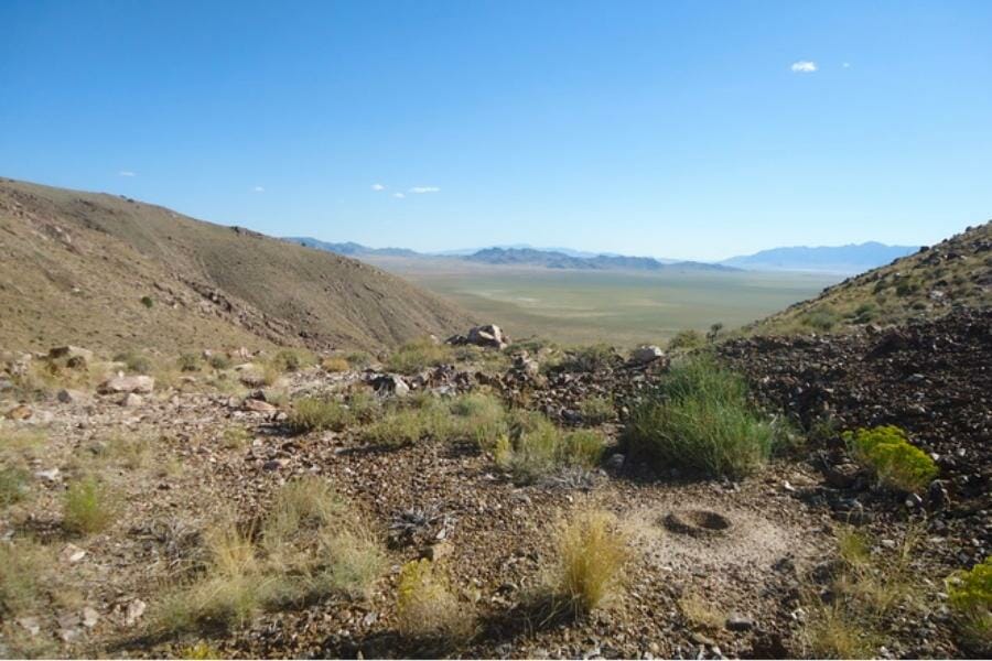
<svg viewBox="0 0 992 661">
<path fill-rule="evenodd" d="M 474 616 L 459 602 L 448 581 L 427 559 L 403 565 L 396 589 L 397 629 L 413 639 L 444 647 L 467 640 Z"/>
</svg>

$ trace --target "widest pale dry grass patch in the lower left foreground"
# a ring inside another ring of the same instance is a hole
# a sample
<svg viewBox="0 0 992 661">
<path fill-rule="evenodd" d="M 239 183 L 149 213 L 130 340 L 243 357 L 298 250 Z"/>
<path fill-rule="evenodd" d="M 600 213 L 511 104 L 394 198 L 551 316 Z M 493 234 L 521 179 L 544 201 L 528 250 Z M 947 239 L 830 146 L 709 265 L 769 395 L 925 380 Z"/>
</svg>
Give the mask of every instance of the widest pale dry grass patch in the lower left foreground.
<svg viewBox="0 0 992 661">
<path fill-rule="evenodd" d="M 265 609 L 367 595 L 386 554 L 347 499 L 326 480 L 287 483 L 265 519 L 248 527 L 227 517 L 204 535 L 196 579 L 155 609 L 159 632 L 244 625 Z"/>
</svg>

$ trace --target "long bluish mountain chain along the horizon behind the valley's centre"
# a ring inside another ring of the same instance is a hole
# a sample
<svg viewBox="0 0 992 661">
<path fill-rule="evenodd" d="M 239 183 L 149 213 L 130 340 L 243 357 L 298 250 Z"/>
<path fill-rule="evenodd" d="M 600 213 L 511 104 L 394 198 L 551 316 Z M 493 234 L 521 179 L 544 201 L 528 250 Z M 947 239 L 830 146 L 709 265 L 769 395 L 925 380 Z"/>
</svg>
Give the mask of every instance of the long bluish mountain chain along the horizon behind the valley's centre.
<svg viewBox="0 0 992 661">
<path fill-rule="evenodd" d="M 543 267 L 546 269 L 576 269 L 576 270 L 624 270 L 624 271 L 659 271 L 659 270 L 693 270 L 693 271 L 737 271 L 740 269 L 725 264 L 711 264 L 694 261 L 659 260 L 653 257 L 627 257 L 623 254 L 595 254 L 579 250 L 551 250 L 530 247 L 494 247 L 482 248 L 467 254 L 462 251 L 446 253 L 423 253 L 406 248 L 369 248 L 352 241 L 331 243 L 312 237 L 285 237 L 301 246 L 326 250 L 347 257 L 405 257 L 420 259 L 452 259 L 464 260 L 474 263 L 493 266 Z"/>
</svg>

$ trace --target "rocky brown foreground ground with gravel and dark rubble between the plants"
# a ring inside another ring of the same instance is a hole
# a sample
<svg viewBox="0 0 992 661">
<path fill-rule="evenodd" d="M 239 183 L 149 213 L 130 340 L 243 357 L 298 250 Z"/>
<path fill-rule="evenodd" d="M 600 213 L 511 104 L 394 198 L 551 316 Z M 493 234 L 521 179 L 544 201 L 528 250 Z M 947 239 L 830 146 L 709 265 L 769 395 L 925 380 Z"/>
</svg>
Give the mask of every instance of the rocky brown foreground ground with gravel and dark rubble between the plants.
<svg viewBox="0 0 992 661">
<path fill-rule="evenodd" d="M 510 346 L 505 370 L 443 366 L 413 377 L 376 367 L 341 373 L 310 368 L 285 376 L 284 401 L 274 403 L 250 391 L 222 392 L 200 373 L 145 393 L 119 391 L 138 390 L 136 383 L 26 403 L 11 391 L 0 393 L 0 435 L 37 431 L 45 438 L 43 452 L 31 458 L 31 497 L 0 514 L 0 538 L 41 540 L 54 552 L 57 575 L 44 608 L 3 622 L 0 653 L 180 653 L 190 639 L 152 640 L 144 625 L 176 567 L 195 555 L 211 518 L 223 508 L 258 516 L 280 485 L 319 475 L 351 496 L 389 540 L 391 568 L 368 599 L 328 597 L 205 633 L 219 653 L 436 653 L 396 628 L 399 567 L 427 556 L 444 567 L 465 607 L 478 615 L 477 635 L 455 655 L 795 657 L 802 653 L 806 617 L 800 593 L 806 577 L 834 557 L 838 525 L 866 527 L 882 540 L 873 553 L 886 556 L 897 553 L 891 542 L 910 520 L 925 520 L 928 543 L 912 561 L 928 585 L 924 606 L 893 616 L 893 641 L 877 653 L 960 655 L 941 579 L 984 557 L 990 545 L 990 321 L 988 313 L 959 313 L 847 339 L 746 339 L 721 349 L 769 405 L 808 427 L 828 418 L 837 430 L 905 426 L 941 467 L 930 492 L 908 499 L 845 472 L 834 433 L 738 483 L 657 474 L 612 448 L 592 473 L 518 487 L 472 444 L 384 448 L 363 442 L 356 429 L 290 435 L 284 423 L 288 402 L 305 394 L 378 388 L 389 399 L 409 397 L 409 390 L 450 397 L 489 388 L 568 426 L 593 426 L 583 420 L 583 399 L 612 398 L 614 419 L 595 426 L 616 440 L 629 407 L 666 370 L 656 351 L 541 369 L 540 351 L 528 356 Z M 247 431 L 244 443 L 230 442 L 233 427 Z M 119 516 L 100 533 L 66 532 L 66 484 L 118 436 L 148 441 L 143 455 L 104 466 L 121 496 Z M 625 589 L 586 618 L 540 621 L 525 604 L 553 554 L 554 523 L 587 505 L 614 512 L 633 540 Z M 704 605 L 707 622 L 690 602 Z"/>
</svg>

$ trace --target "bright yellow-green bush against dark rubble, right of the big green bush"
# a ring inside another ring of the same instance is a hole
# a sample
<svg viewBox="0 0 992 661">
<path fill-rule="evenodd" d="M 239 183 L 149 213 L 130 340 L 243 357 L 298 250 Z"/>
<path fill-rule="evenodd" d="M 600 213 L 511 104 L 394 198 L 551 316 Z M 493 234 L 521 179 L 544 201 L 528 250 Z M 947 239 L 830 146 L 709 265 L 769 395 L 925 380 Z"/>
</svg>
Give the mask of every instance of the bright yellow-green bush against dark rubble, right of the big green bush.
<svg viewBox="0 0 992 661">
<path fill-rule="evenodd" d="M 894 425 L 845 432 L 843 438 L 858 462 L 875 473 L 878 481 L 905 491 L 921 491 L 938 474 L 937 464 L 910 444 L 906 432 Z"/>
</svg>

